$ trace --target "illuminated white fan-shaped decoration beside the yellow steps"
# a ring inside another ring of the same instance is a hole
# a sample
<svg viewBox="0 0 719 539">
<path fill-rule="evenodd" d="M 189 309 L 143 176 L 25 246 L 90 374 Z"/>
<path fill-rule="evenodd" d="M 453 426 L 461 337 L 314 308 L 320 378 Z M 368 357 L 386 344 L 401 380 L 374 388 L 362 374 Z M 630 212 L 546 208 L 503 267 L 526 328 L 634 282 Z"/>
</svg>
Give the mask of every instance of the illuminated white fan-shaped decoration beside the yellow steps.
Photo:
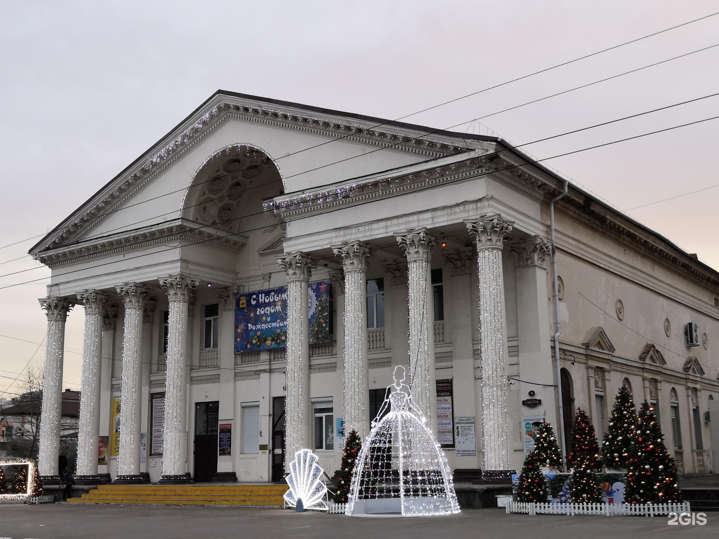
<svg viewBox="0 0 719 539">
<path fill-rule="evenodd" d="M 322 482 L 324 470 L 317 463 L 317 456 L 309 449 L 295 453 L 290 462 L 290 474 L 285 477 L 290 489 L 285 492 L 285 505 L 296 510 L 328 510 L 324 497 L 327 492 Z"/>
</svg>

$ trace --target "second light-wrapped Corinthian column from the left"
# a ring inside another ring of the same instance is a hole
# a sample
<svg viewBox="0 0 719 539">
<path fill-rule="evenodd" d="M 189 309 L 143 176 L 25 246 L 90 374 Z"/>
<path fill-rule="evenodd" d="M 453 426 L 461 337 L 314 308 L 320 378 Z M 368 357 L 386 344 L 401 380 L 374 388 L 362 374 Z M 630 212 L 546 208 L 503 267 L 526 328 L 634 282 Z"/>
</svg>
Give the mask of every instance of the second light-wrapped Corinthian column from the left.
<svg viewBox="0 0 719 539">
<path fill-rule="evenodd" d="M 80 421 L 78 423 L 78 478 L 97 476 L 100 436 L 100 361 L 102 359 L 102 313 L 109 296 L 85 290 L 78 300 L 85 305 L 85 334 L 80 381 Z M 85 477 L 83 477 L 85 476 Z"/>
</svg>

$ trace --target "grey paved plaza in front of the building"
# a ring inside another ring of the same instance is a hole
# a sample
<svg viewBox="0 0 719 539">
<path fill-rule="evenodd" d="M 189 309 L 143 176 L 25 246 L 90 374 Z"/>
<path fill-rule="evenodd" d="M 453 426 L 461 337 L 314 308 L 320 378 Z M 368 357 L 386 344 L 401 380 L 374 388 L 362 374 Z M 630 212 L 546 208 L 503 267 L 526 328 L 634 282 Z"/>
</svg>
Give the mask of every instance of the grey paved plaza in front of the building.
<svg viewBox="0 0 719 539">
<path fill-rule="evenodd" d="M 715 539 L 719 512 L 706 515 L 703 526 L 670 526 L 667 517 L 529 517 L 506 515 L 503 510 L 464 510 L 454 517 L 402 519 L 252 508 L 0 505 L 0 538 Z"/>
</svg>

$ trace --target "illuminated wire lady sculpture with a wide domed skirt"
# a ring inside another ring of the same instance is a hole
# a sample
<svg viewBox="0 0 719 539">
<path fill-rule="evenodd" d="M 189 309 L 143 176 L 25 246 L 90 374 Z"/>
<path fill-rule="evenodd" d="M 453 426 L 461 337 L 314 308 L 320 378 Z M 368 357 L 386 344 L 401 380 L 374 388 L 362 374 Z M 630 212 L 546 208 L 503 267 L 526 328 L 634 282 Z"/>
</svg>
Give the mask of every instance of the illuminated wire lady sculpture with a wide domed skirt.
<svg viewBox="0 0 719 539">
<path fill-rule="evenodd" d="M 354 466 L 345 515 L 349 517 L 427 517 L 459 513 L 452 474 L 426 419 L 395 367 L 372 430 Z"/>
</svg>

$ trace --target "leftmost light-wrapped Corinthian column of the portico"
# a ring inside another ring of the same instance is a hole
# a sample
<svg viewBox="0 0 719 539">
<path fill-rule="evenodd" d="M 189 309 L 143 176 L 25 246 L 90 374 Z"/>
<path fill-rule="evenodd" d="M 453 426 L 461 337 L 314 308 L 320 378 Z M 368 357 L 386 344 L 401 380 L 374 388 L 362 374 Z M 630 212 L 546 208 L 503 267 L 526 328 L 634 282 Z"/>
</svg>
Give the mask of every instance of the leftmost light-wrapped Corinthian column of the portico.
<svg viewBox="0 0 719 539">
<path fill-rule="evenodd" d="M 47 345 L 45 346 L 45 380 L 42 382 L 40 408 L 40 444 L 37 466 L 40 479 L 59 480 L 60 421 L 63 407 L 63 349 L 65 320 L 72 303 L 64 298 L 43 298 L 40 307 L 47 314 Z"/>
</svg>

